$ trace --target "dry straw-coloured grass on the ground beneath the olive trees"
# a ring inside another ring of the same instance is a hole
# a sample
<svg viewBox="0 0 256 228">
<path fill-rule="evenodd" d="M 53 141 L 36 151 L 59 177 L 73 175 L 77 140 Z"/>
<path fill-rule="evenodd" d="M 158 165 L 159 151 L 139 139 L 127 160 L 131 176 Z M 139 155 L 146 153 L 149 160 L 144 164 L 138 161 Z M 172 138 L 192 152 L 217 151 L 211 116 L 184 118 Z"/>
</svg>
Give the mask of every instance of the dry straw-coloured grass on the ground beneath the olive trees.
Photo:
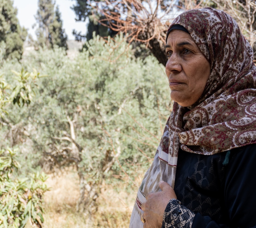
<svg viewBox="0 0 256 228">
<path fill-rule="evenodd" d="M 89 220 L 84 214 L 75 211 L 79 197 L 79 181 L 76 172 L 65 171 L 58 175 L 50 174 L 47 185 L 51 190 L 44 196 L 43 228 L 129 227 L 136 187 L 130 193 L 125 190 L 117 192 L 110 185 L 103 184 L 98 198 L 98 211 L 92 215 L 92 220 Z M 121 188 L 125 189 L 125 186 Z"/>
</svg>

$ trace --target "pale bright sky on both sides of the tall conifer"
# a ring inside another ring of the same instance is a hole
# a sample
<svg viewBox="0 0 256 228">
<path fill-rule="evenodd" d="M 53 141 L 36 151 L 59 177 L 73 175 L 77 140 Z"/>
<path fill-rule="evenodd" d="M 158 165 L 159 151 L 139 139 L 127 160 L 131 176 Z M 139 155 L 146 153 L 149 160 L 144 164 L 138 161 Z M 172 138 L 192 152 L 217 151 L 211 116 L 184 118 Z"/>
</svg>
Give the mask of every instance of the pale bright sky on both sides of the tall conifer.
<svg viewBox="0 0 256 228">
<path fill-rule="evenodd" d="M 32 35 L 33 39 L 36 40 L 35 30 L 37 27 L 32 29 L 32 25 L 36 23 L 35 15 L 37 12 L 37 0 L 13 0 L 13 6 L 18 9 L 18 19 L 21 26 L 28 29 L 28 33 Z M 68 36 L 68 40 L 74 40 L 75 37 L 72 35 L 73 29 L 76 31 L 82 31 L 82 34 L 86 33 L 85 22 L 76 22 L 75 13 L 70 7 L 75 4 L 75 1 L 71 0 L 55 0 L 56 5 L 59 6 L 61 12 L 61 19 L 63 22 L 63 29 Z"/>
</svg>

